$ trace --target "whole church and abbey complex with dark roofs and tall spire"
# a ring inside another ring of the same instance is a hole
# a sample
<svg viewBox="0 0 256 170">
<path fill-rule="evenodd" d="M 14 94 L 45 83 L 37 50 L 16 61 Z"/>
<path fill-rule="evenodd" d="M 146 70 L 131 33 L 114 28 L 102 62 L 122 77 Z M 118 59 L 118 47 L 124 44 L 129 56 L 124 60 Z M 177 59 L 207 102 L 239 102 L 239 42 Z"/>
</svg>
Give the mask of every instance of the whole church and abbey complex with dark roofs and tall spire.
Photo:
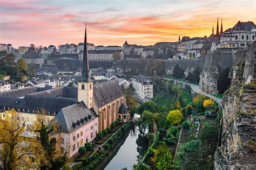
<svg viewBox="0 0 256 170">
<path fill-rule="evenodd" d="M 86 27 L 84 44 L 87 44 Z M 0 119 L 6 112 L 15 109 L 17 121 L 30 125 L 36 121 L 39 110 L 46 110 L 46 123 L 60 124 L 57 139 L 60 153 L 68 150 L 69 157 L 78 153 L 78 148 L 92 141 L 96 133 L 109 128 L 118 118 L 126 122 L 130 114 L 126 99 L 117 80 L 93 85 L 89 76 L 87 46 L 84 46 L 82 78 L 78 87 L 54 89 L 29 87 L 0 93 Z"/>
</svg>

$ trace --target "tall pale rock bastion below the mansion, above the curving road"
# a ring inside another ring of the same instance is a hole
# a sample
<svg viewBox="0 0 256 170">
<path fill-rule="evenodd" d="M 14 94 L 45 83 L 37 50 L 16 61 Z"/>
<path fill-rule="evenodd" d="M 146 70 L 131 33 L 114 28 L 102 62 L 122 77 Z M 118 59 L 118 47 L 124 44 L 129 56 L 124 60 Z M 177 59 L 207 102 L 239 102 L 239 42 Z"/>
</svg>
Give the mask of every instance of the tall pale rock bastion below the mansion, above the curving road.
<svg viewBox="0 0 256 170">
<path fill-rule="evenodd" d="M 233 65 L 232 51 L 207 53 L 204 69 L 200 75 L 200 88 L 209 94 L 218 94 L 217 80 L 222 70 Z"/>
</svg>

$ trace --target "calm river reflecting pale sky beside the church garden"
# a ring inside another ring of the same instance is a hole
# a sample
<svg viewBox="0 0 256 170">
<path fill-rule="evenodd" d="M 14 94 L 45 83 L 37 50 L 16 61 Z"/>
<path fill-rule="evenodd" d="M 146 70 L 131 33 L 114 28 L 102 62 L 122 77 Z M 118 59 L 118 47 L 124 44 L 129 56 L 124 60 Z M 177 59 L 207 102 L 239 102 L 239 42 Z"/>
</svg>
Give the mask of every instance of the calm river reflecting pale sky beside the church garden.
<svg viewBox="0 0 256 170">
<path fill-rule="evenodd" d="M 139 132 L 138 126 L 132 124 L 129 136 L 104 169 L 120 170 L 125 167 L 132 169 L 133 164 L 137 163 L 137 155 L 139 152 L 145 152 L 148 145 L 147 138 Z"/>
</svg>

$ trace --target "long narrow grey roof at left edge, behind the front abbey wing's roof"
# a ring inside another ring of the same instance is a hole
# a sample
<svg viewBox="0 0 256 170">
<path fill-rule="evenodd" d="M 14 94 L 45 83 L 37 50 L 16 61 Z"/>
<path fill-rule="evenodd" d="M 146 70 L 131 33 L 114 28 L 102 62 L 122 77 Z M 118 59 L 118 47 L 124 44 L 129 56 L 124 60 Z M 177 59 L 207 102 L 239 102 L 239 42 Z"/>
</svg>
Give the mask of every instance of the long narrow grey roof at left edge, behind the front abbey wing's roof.
<svg viewBox="0 0 256 170">
<path fill-rule="evenodd" d="M 10 91 L 4 91 L 0 93 L 0 97 L 24 97 L 25 95 L 31 94 L 31 93 L 36 93 L 38 91 L 44 91 L 48 90 L 49 88 L 46 87 L 27 87 L 23 89 L 15 89 L 15 90 L 10 90 Z"/>
</svg>

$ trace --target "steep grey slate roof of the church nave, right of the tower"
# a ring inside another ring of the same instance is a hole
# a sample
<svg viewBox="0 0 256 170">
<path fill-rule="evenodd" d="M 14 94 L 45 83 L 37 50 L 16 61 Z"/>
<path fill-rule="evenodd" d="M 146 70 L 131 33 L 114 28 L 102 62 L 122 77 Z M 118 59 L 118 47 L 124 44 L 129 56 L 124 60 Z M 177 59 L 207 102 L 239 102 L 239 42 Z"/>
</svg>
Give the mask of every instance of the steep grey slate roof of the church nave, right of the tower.
<svg viewBox="0 0 256 170">
<path fill-rule="evenodd" d="M 111 80 L 93 86 L 93 98 L 98 107 L 124 96 L 117 80 Z"/>
</svg>

